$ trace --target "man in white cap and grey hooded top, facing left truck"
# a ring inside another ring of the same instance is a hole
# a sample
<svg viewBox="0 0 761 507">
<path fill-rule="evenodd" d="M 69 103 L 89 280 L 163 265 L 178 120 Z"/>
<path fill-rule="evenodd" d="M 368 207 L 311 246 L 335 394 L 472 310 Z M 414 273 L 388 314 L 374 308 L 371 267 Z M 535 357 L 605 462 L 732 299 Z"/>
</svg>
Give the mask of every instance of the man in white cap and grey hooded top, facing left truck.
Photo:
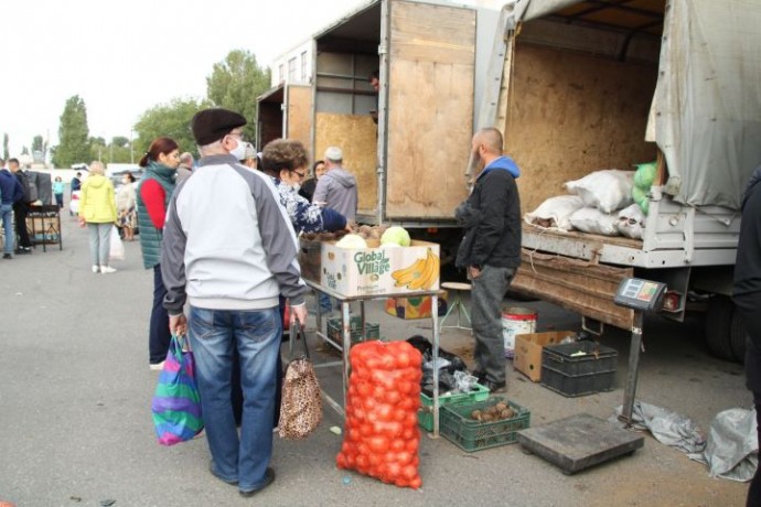
<svg viewBox="0 0 761 507">
<path fill-rule="evenodd" d="M 330 206 L 347 220 L 356 216 L 357 188 L 356 179 L 343 169 L 341 148 L 330 147 L 325 150 L 325 174 L 318 180 L 312 202 Z"/>
</svg>

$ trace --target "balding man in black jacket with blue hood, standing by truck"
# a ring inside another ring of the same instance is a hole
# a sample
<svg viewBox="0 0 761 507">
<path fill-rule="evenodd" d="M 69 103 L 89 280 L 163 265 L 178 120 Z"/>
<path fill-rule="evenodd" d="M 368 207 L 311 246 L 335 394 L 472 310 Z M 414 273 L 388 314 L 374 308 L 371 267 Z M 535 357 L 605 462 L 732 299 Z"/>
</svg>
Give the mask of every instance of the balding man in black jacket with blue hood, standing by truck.
<svg viewBox="0 0 761 507">
<path fill-rule="evenodd" d="M 492 392 L 506 390 L 502 300 L 521 265 L 521 171 L 502 155 L 502 133 L 475 132 L 473 166 L 479 173 L 470 197 L 454 212 L 464 229 L 455 265 L 467 268 L 473 290 L 471 315 L 475 336 L 475 376 Z"/>
</svg>

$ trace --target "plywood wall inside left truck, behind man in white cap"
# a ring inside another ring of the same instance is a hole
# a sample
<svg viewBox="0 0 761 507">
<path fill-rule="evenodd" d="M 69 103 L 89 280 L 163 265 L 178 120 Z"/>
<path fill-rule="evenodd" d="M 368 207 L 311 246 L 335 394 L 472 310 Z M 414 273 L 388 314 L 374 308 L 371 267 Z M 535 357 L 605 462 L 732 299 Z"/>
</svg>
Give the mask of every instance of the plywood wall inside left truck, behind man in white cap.
<svg viewBox="0 0 761 507">
<path fill-rule="evenodd" d="M 317 114 L 314 158 L 328 147 L 343 150 L 343 165 L 357 181 L 358 209 L 374 214 L 377 204 L 377 128 L 367 115 Z"/>
</svg>

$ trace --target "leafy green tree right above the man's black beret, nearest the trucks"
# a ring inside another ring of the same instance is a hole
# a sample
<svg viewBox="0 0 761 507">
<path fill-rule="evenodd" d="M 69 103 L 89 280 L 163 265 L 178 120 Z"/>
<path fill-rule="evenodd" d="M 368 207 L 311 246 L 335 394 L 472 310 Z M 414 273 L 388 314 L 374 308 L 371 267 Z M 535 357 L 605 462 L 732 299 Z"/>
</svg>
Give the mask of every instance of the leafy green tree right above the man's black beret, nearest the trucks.
<svg viewBox="0 0 761 507">
<path fill-rule="evenodd" d="M 216 107 L 240 112 L 248 125 L 244 127 L 246 139 L 256 139 L 256 98 L 269 89 L 270 69 L 262 69 L 256 56 L 247 51 L 234 50 L 224 62 L 214 64 L 206 78 L 206 95 Z"/>
</svg>

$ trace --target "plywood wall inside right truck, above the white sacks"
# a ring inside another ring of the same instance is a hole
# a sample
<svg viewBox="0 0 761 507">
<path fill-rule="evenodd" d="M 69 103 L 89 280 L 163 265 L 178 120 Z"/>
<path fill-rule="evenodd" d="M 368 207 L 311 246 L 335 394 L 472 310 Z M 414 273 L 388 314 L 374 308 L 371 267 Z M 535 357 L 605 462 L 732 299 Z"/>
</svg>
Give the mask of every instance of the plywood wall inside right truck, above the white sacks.
<svg viewBox="0 0 761 507">
<path fill-rule="evenodd" d="M 644 141 L 655 66 L 530 45 L 516 46 L 505 150 L 523 174 L 523 212 L 600 169 L 654 161 Z"/>
</svg>

